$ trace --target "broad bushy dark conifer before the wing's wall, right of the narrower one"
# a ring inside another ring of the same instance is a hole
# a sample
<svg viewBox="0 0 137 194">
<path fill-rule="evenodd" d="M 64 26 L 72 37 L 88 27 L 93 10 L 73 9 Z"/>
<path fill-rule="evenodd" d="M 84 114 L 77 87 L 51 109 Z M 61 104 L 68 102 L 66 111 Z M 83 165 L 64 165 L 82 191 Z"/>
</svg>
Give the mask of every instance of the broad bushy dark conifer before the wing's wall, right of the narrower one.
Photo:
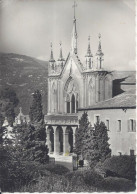
<svg viewBox="0 0 137 194">
<path fill-rule="evenodd" d="M 88 134 L 85 133 L 84 155 L 91 166 L 104 161 L 111 153 L 108 140 L 108 130 L 103 122 L 97 122 L 94 128 L 88 128 Z"/>
</svg>

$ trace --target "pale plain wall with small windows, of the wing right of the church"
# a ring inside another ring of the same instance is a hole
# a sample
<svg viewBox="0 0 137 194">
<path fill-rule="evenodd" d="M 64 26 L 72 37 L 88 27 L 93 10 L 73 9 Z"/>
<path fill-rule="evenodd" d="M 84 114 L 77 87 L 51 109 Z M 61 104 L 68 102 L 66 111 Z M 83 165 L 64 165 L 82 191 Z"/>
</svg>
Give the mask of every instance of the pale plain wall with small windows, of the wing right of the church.
<svg viewBox="0 0 137 194">
<path fill-rule="evenodd" d="M 109 143 L 112 149 L 112 155 L 130 154 L 130 150 L 136 150 L 136 132 L 135 132 L 135 109 L 104 109 L 104 110 L 88 110 L 89 121 L 92 126 L 96 122 L 96 116 L 100 117 L 100 121 L 103 121 L 106 125 L 109 122 L 110 137 Z M 79 119 L 83 114 L 83 111 L 79 113 Z M 121 120 L 121 131 L 119 131 L 119 121 Z M 133 120 L 134 131 L 131 131 L 130 121 Z"/>
</svg>

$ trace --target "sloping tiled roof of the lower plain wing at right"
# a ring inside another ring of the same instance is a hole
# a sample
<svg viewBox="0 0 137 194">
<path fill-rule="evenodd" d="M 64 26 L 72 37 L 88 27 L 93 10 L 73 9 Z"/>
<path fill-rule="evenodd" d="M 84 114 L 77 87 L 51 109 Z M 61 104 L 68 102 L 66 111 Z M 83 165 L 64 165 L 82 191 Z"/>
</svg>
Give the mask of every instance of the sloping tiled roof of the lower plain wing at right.
<svg viewBox="0 0 137 194">
<path fill-rule="evenodd" d="M 135 108 L 136 95 L 133 93 L 123 93 L 114 98 L 98 102 L 88 108 L 79 108 L 79 110 L 95 110 L 95 109 L 120 109 L 120 108 Z"/>
</svg>

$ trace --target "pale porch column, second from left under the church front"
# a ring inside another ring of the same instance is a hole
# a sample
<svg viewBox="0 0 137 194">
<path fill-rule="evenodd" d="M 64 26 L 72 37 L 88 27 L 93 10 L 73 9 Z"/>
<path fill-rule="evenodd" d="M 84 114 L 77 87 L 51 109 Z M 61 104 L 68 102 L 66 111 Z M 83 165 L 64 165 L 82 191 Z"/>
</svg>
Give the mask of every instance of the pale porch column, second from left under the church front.
<svg viewBox="0 0 137 194">
<path fill-rule="evenodd" d="M 60 142 L 59 142 L 59 130 L 57 126 L 53 126 L 54 130 L 54 154 L 58 155 L 60 152 Z"/>
</svg>

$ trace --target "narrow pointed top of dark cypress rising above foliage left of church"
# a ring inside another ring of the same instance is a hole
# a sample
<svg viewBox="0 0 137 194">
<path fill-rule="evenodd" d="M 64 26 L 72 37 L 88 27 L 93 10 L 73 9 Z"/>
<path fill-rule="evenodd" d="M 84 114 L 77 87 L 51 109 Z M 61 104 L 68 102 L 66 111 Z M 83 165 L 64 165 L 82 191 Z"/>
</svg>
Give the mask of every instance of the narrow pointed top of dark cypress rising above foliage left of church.
<svg viewBox="0 0 137 194">
<path fill-rule="evenodd" d="M 39 122 L 43 119 L 42 96 L 39 90 L 33 94 L 33 101 L 30 107 L 29 117 L 31 122 Z"/>
</svg>

